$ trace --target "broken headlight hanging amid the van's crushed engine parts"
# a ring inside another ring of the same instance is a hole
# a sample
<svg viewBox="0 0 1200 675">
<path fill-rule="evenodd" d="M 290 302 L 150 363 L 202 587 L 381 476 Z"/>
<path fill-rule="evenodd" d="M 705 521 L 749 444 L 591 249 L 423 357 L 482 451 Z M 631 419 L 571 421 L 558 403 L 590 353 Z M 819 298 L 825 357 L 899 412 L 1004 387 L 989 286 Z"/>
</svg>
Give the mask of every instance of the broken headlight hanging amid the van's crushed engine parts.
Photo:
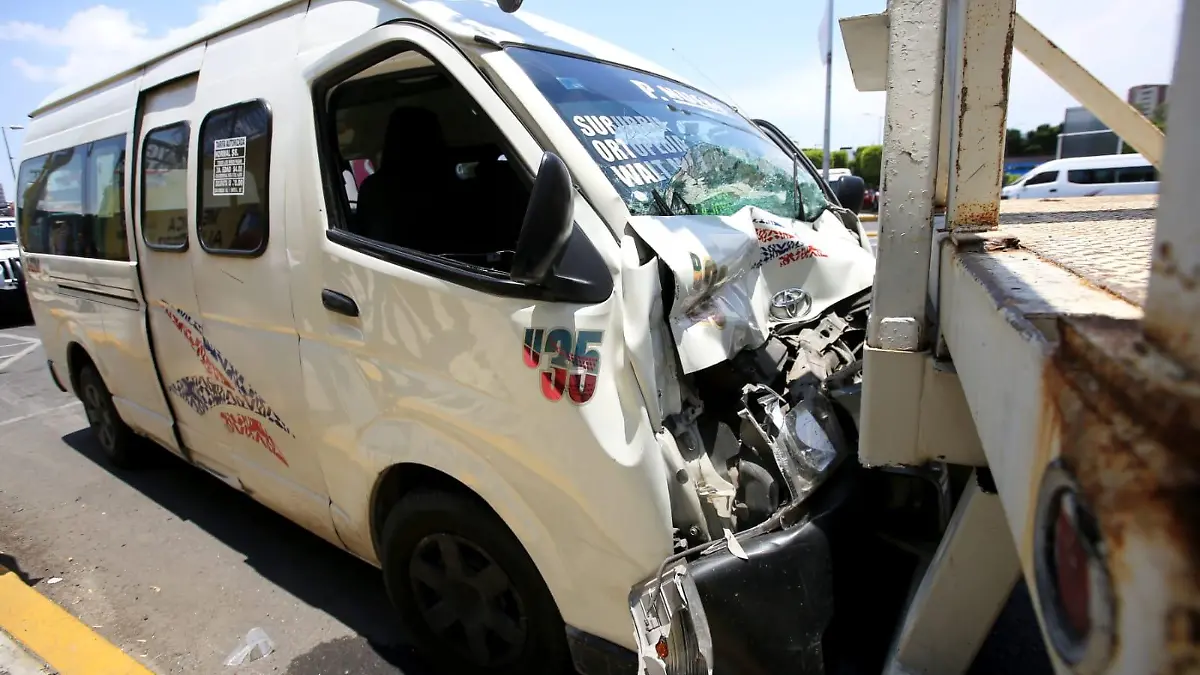
<svg viewBox="0 0 1200 675">
<path fill-rule="evenodd" d="M 761 384 L 746 386 L 742 395 L 739 414 L 754 432 L 743 441 L 760 453 L 769 450 L 792 503 L 803 502 L 851 452 L 833 405 L 815 387 L 804 388 L 786 412 L 786 401 Z"/>
</svg>

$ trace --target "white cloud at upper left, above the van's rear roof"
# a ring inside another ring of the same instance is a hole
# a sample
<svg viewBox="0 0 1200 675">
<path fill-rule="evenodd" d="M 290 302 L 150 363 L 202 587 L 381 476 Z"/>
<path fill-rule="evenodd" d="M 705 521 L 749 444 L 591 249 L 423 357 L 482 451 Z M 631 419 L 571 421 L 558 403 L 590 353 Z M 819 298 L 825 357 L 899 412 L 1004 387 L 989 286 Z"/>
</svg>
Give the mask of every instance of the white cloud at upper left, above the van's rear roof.
<svg viewBox="0 0 1200 675">
<path fill-rule="evenodd" d="M 12 60 L 12 66 L 34 82 L 59 85 L 94 80 L 134 64 L 139 58 L 175 43 L 185 35 L 197 35 L 206 25 L 244 17 L 270 0 L 218 0 L 197 8 L 197 20 L 162 35 L 150 35 L 142 22 L 126 10 L 96 5 L 80 10 L 60 26 L 26 22 L 0 23 L 0 40 L 23 42 L 61 54 L 52 62 Z"/>
</svg>

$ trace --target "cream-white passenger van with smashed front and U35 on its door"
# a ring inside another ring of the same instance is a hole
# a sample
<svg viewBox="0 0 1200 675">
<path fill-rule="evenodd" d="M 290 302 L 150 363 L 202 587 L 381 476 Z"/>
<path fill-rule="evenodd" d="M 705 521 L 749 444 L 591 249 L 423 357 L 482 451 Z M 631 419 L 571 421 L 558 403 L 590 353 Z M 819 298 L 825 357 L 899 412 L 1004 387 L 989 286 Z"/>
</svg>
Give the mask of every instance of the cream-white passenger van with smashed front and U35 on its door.
<svg viewBox="0 0 1200 675">
<path fill-rule="evenodd" d="M 854 459 L 860 181 L 479 0 L 280 0 L 31 118 L 29 294 L 118 466 L 377 565 L 445 673 L 882 663 L 948 488 Z"/>
</svg>

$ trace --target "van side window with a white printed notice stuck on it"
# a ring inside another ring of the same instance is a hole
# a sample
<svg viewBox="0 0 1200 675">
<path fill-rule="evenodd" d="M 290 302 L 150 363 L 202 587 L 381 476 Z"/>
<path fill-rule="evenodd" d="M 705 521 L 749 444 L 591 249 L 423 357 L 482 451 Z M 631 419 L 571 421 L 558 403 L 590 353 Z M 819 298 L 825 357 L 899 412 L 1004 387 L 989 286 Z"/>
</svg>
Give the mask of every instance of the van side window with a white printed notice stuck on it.
<svg viewBox="0 0 1200 675">
<path fill-rule="evenodd" d="M 210 253 L 266 249 L 271 112 L 263 101 L 214 110 L 200 124 L 199 231 Z"/>
</svg>

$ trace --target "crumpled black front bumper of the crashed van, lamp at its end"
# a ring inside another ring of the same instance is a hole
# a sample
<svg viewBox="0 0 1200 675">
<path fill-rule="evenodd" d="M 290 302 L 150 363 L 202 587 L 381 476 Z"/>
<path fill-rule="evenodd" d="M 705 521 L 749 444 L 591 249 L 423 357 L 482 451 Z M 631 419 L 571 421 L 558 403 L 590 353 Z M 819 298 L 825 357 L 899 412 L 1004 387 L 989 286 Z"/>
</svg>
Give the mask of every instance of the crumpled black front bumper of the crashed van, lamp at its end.
<svg viewBox="0 0 1200 675">
<path fill-rule="evenodd" d="M 805 502 L 804 521 L 740 540 L 745 558 L 721 545 L 667 569 L 653 611 L 656 580 L 634 590 L 642 673 L 882 669 L 913 561 L 869 527 L 864 472 L 839 473 Z"/>
</svg>

